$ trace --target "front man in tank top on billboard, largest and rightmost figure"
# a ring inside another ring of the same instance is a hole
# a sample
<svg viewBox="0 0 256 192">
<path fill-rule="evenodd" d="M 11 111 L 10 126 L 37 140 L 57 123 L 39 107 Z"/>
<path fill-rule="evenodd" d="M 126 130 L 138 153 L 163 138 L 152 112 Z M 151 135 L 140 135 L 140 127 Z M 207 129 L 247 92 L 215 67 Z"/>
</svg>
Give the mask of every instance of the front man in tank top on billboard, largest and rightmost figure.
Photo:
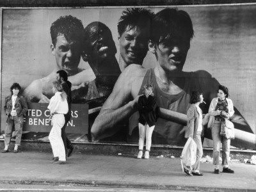
<svg viewBox="0 0 256 192">
<path fill-rule="evenodd" d="M 148 49 L 156 56 L 156 67 L 146 69 L 140 65 L 129 65 L 125 68 L 92 126 L 95 139 L 115 134 L 120 129 L 115 125 L 129 119 L 130 141 L 138 141 L 138 137 L 135 138 L 138 132 L 134 127 L 138 124 L 137 102 L 144 84 L 154 86 L 159 108 L 177 111 L 183 115 L 189 108 L 191 90 L 204 90 L 207 104 L 202 106 L 202 111 L 207 113 L 219 83 L 204 70 L 182 70 L 194 35 L 188 13 L 174 8 L 161 10 L 152 21 L 150 33 Z M 252 132 L 237 110 L 233 120 L 237 128 Z M 152 143 L 184 145 L 184 131 L 184 125 L 158 118 Z"/>
</svg>

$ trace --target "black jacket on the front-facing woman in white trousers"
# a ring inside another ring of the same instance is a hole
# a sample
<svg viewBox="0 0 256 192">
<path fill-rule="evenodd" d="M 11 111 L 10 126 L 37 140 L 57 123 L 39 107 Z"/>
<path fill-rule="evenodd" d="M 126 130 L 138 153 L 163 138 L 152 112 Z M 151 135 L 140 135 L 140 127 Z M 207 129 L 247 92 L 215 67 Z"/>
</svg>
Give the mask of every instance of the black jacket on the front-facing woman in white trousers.
<svg viewBox="0 0 256 192">
<path fill-rule="evenodd" d="M 138 110 L 140 113 L 139 123 L 145 125 L 146 122 L 149 127 L 156 124 L 156 98 L 149 95 L 148 98 L 145 95 L 141 95 L 138 99 Z"/>
</svg>

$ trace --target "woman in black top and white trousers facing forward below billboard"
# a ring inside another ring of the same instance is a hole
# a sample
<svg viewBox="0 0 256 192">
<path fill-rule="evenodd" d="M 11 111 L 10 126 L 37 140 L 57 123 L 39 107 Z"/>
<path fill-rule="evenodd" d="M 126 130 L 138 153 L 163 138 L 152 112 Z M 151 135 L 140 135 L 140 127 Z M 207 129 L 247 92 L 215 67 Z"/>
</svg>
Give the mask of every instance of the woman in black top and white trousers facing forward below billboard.
<svg viewBox="0 0 256 192">
<path fill-rule="evenodd" d="M 149 159 L 149 152 L 151 147 L 151 137 L 156 124 L 156 98 L 153 94 L 153 87 L 151 84 L 143 86 L 145 94 L 141 95 L 138 99 L 138 110 L 140 113 L 139 118 L 139 154 L 138 159 L 143 155 L 144 140 L 146 137 L 146 151 L 145 159 Z"/>
</svg>

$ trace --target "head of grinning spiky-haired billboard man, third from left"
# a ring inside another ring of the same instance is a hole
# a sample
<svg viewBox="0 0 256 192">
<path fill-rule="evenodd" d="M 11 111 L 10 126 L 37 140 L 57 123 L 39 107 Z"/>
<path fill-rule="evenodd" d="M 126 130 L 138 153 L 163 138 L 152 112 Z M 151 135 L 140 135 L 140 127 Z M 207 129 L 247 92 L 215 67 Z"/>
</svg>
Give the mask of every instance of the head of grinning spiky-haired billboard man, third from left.
<svg viewBox="0 0 256 192">
<path fill-rule="evenodd" d="M 150 24 L 154 13 L 145 8 L 127 8 L 122 12 L 117 29 L 121 71 L 128 65 L 142 65 L 148 52 Z"/>
</svg>

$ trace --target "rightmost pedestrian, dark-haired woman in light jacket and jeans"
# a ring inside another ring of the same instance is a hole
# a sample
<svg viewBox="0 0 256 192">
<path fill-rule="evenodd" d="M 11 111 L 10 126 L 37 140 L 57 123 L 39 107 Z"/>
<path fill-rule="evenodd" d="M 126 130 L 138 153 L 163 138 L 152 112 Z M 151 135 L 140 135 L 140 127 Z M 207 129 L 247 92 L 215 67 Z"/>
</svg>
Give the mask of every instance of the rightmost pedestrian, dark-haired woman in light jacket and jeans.
<svg viewBox="0 0 256 192">
<path fill-rule="evenodd" d="M 230 154 L 230 139 L 221 136 L 221 122 L 234 115 L 234 106 L 231 99 L 228 99 L 228 88 L 220 85 L 218 87 L 218 97 L 212 99 L 209 107 L 209 115 L 212 116 L 212 141 L 213 141 L 213 164 L 215 166 L 214 173 L 220 174 L 220 147 L 222 143 L 222 166 L 223 173 L 234 173 L 228 167 L 228 159 Z"/>
</svg>

